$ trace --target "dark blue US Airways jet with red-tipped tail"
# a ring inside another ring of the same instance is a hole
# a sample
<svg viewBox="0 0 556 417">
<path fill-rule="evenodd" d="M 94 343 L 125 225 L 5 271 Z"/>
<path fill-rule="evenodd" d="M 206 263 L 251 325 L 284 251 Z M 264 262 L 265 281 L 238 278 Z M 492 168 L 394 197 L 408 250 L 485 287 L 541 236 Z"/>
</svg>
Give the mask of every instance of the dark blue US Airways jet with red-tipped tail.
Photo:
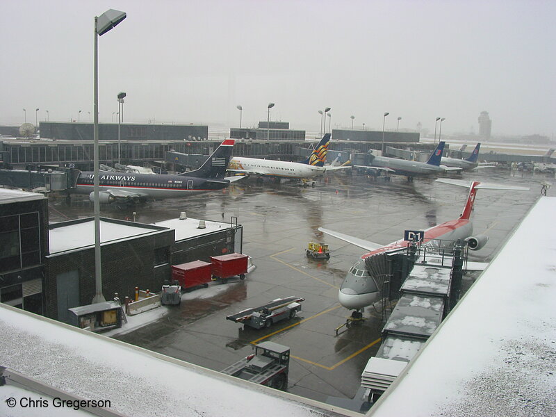
<svg viewBox="0 0 556 417">
<path fill-rule="evenodd" d="M 101 203 L 134 203 L 149 199 L 183 197 L 195 193 L 220 190 L 241 177 L 224 178 L 234 140 L 224 140 L 198 170 L 182 174 L 133 174 L 99 172 L 99 199 Z M 94 201 L 95 175 L 81 172 L 73 193 L 88 194 Z"/>
</svg>

